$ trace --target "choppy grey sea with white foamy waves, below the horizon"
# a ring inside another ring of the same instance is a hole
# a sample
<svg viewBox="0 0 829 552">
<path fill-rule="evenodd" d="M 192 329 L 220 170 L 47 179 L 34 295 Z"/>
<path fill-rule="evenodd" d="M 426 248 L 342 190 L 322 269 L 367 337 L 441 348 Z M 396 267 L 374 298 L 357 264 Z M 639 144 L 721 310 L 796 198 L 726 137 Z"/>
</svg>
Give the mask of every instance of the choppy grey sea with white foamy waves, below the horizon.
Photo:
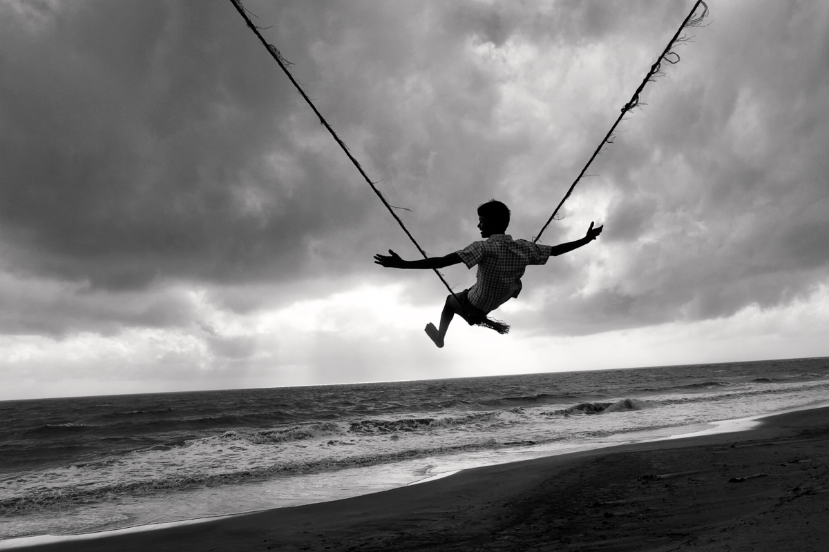
<svg viewBox="0 0 829 552">
<path fill-rule="evenodd" d="M 0 401 L 0 539 L 324 502 L 827 402 L 829 358 Z"/>
</svg>

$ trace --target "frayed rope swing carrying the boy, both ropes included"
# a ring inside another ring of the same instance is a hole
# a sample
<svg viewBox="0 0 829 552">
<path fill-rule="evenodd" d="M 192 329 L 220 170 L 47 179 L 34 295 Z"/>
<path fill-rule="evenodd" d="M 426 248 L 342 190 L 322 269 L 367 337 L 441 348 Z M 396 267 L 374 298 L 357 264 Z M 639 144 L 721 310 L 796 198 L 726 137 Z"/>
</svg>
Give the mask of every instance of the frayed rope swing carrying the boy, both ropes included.
<svg viewBox="0 0 829 552">
<path fill-rule="evenodd" d="M 334 138 L 334 140 L 337 142 L 337 144 L 339 144 L 339 146 L 342 148 L 342 151 L 345 152 L 348 159 L 351 160 L 351 163 L 353 163 L 354 166 L 356 166 L 356 169 L 360 171 L 360 174 L 362 175 L 363 179 L 365 179 L 366 183 L 369 186 L 371 186 L 371 190 L 374 191 L 374 193 L 377 195 L 377 197 L 380 198 L 382 204 L 385 205 L 385 209 L 388 209 L 389 213 L 391 214 L 392 217 L 395 218 L 395 221 L 397 221 L 397 223 L 400 225 L 400 228 L 403 229 L 403 232 L 405 232 L 406 236 L 408 236 L 409 239 L 411 240 L 411 242 L 414 243 L 414 247 L 417 247 L 417 250 L 420 252 L 421 255 L 423 255 L 424 258 L 429 258 L 429 256 L 424 251 L 423 247 L 420 247 L 420 244 L 417 242 L 416 239 L 414 239 L 414 236 L 412 236 L 412 234 L 409 232 L 409 229 L 405 227 L 405 224 L 403 223 L 403 221 L 400 220 L 400 217 L 397 216 L 397 214 L 395 213 L 395 209 L 400 209 L 400 208 L 395 208 L 392 204 L 390 204 L 385 199 L 385 197 L 383 196 L 381 191 L 377 190 L 377 187 L 375 185 L 376 182 L 373 182 L 368 177 L 368 175 L 366 175 L 366 171 L 363 170 L 362 166 L 360 166 L 360 162 L 357 161 L 355 159 L 355 157 L 351 155 L 351 151 L 349 151 L 348 146 L 346 146 L 345 142 L 342 142 L 342 139 L 339 136 L 337 136 L 337 132 L 334 132 L 334 129 L 331 127 L 331 125 L 328 124 L 328 122 L 325 120 L 324 117 L 322 117 L 322 113 L 319 113 L 319 110 L 317 109 L 317 106 L 315 106 L 313 104 L 313 101 L 311 101 L 311 98 L 308 98 L 308 94 L 305 94 L 305 91 L 303 90 L 303 88 L 299 85 L 297 80 L 293 78 L 293 75 L 290 73 L 290 71 L 288 71 L 288 66 L 292 65 L 292 64 L 288 60 L 285 60 L 285 58 L 279 52 L 279 50 L 276 49 L 276 46 L 274 46 L 273 44 L 269 44 L 269 42 L 264 39 L 264 36 L 262 36 L 262 34 L 259 32 L 259 31 L 262 31 L 264 29 L 262 29 L 262 27 L 256 26 L 254 24 L 254 22 L 250 21 L 250 17 L 248 17 L 248 13 L 250 13 L 250 12 L 248 12 L 248 10 L 245 9 L 245 7 L 242 5 L 242 2 L 240 2 L 240 0 L 230 0 L 230 3 L 233 4 L 233 6 L 236 8 L 236 11 L 239 12 L 240 16 L 245 20 L 245 23 L 250 28 L 250 31 L 253 31 L 253 33 L 256 35 L 257 38 L 259 38 L 259 41 L 262 43 L 262 45 L 265 47 L 265 49 L 269 51 L 271 57 L 273 57 L 274 60 L 276 61 L 276 63 L 279 65 L 279 68 L 281 70 L 283 70 L 284 74 L 286 74 L 288 76 L 288 79 L 291 81 L 291 84 L 293 84 L 294 88 L 297 89 L 299 95 L 301 95 L 303 97 L 303 99 L 305 100 L 305 102 L 308 103 L 308 105 L 313 109 L 313 113 L 315 113 L 317 115 L 317 117 L 319 118 L 319 122 L 322 124 L 322 126 L 326 128 L 326 130 L 331 134 L 331 136 Z M 703 12 L 698 17 L 692 17 L 694 15 L 694 13 L 696 12 L 696 8 L 699 7 L 700 5 L 702 5 L 702 7 L 703 7 Z M 642 92 L 642 89 L 645 88 L 645 84 L 647 84 L 648 82 L 651 82 L 653 79 L 655 79 L 655 77 L 657 77 L 661 74 L 664 74 L 660 70 L 661 65 L 662 65 L 662 61 L 667 61 L 671 65 L 676 64 L 676 63 L 679 62 L 679 60 L 680 60 L 679 55 L 676 54 L 676 52 L 671 51 L 671 49 L 674 46 L 676 46 L 677 44 L 681 44 L 683 42 L 691 41 L 690 37 L 687 37 L 687 36 L 682 36 L 681 37 L 681 36 L 679 36 L 681 31 L 683 29 L 687 28 L 687 27 L 700 26 L 702 20 L 705 19 L 705 16 L 707 14 L 708 14 L 708 7 L 705 5 L 705 2 L 703 2 L 702 0 L 697 0 L 696 4 L 694 4 L 694 7 L 691 9 L 691 12 L 688 14 L 688 17 L 686 17 L 684 22 L 682 22 L 682 25 L 676 31 L 676 34 L 673 36 L 671 41 L 668 43 L 668 46 L 665 48 L 665 50 L 662 51 L 662 55 L 659 56 L 659 58 L 657 59 L 657 62 L 655 64 L 653 64 L 652 67 L 651 67 L 651 70 L 648 71 L 647 76 L 645 77 L 645 79 L 642 80 L 642 84 L 639 84 L 639 88 L 633 94 L 633 98 L 631 98 L 631 100 L 628 103 L 626 103 L 625 106 L 622 108 L 622 113 L 619 115 L 618 119 L 616 119 L 616 122 L 613 123 L 613 127 L 610 127 L 610 131 L 604 137 L 604 140 L 602 140 L 602 142 L 599 144 L 599 147 L 596 148 L 596 151 L 594 151 L 593 156 L 590 157 L 589 161 L 587 162 L 587 165 L 584 166 L 584 169 L 581 170 L 581 172 L 579 173 L 579 176 L 574 180 L 573 184 L 570 185 L 570 190 L 567 190 L 567 193 L 565 194 L 564 199 L 561 199 L 558 207 L 555 208 L 555 211 L 553 211 L 553 214 L 550 215 L 550 218 L 547 220 L 544 227 L 541 228 L 541 232 L 539 232 L 538 236 L 536 236 L 536 238 L 533 239 L 533 241 L 532 241 L 533 243 L 538 242 L 539 238 L 541 238 L 541 233 L 544 233 L 545 229 L 550 225 L 550 223 L 555 218 L 555 215 L 558 213 L 559 209 L 561 208 L 561 205 L 563 205 L 565 203 L 565 201 L 567 200 L 567 198 L 570 197 L 570 194 L 573 192 L 573 189 L 575 188 L 575 185 L 577 185 L 579 183 L 579 180 L 581 180 L 581 177 L 584 176 L 584 171 L 586 171 L 588 169 L 588 167 L 590 166 L 590 163 L 592 163 L 593 160 L 595 159 L 595 157 L 599 155 L 600 151 L 602 150 L 602 148 L 606 144 L 613 143 L 613 131 L 618 126 L 618 123 L 622 121 L 622 119 L 624 118 L 625 113 L 628 113 L 631 109 L 637 108 L 638 106 L 642 105 L 642 103 L 640 103 L 640 101 L 639 101 L 639 94 Z M 254 16 L 254 17 L 256 17 L 256 16 Z M 669 55 L 676 56 L 676 59 L 669 58 L 668 57 Z M 434 271 L 435 274 L 438 275 L 438 277 L 440 278 L 440 281 L 442 281 L 444 283 L 444 286 L 446 286 L 446 289 L 449 290 L 449 293 L 452 294 L 452 296 L 455 298 L 455 300 L 458 300 L 458 295 L 455 295 L 455 292 L 452 290 L 452 287 L 449 286 L 448 281 L 446 281 L 446 278 L 444 278 L 444 275 L 441 273 L 441 271 L 439 271 L 436 268 L 433 268 L 432 270 Z M 502 322 L 501 320 L 492 319 L 492 318 L 485 318 L 478 325 L 486 326 L 487 328 L 494 329 L 499 334 L 507 334 L 510 331 L 510 327 L 509 327 L 508 324 Z"/>
</svg>

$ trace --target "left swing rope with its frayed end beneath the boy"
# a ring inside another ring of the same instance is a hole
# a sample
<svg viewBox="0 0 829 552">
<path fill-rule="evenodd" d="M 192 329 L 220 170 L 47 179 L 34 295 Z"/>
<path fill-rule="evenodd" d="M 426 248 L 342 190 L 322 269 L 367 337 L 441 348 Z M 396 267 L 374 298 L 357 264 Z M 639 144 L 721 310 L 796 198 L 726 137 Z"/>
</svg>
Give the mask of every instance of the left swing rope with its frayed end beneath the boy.
<svg viewBox="0 0 829 552">
<path fill-rule="evenodd" d="M 291 84 L 293 84 L 293 87 L 295 89 L 297 89 L 299 95 L 301 95 L 303 97 L 303 99 L 305 100 L 305 102 L 308 103 L 308 105 L 313 109 L 313 113 L 315 113 L 317 115 L 317 117 L 319 118 L 319 122 L 322 124 L 322 126 L 325 127 L 326 130 L 331 133 L 331 136 L 334 138 L 334 140 L 337 142 L 337 144 L 339 144 L 339 146 L 342 148 L 342 151 L 344 151 L 345 154 L 348 156 L 348 159 L 351 160 L 351 163 L 353 163 L 354 166 L 356 166 L 356 169 L 360 171 L 360 174 L 366 180 L 366 183 L 369 186 L 371 186 L 371 190 L 374 191 L 374 193 L 377 195 L 377 197 L 380 198 L 381 202 L 383 202 L 383 204 L 385 205 L 385 209 L 388 209 L 391 216 L 395 218 L 395 220 L 397 221 L 398 224 L 400 224 L 400 228 L 403 228 L 403 232 L 405 232 L 406 236 L 408 236 L 409 239 L 411 240 L 411 242 L 414 243 L 414 247 L 417 247 L 417 250 L 420 252 L 421 255 L 423 255 L 424 259 L 429 258 L 429 255 L 426 254 L 426 252 L 423 250 L 423 247 L 420 247 L 420 244 L 417 242 L 416 239 L 414 239 L 414 236 L 412 236 L 412 234 L 409 232 L 409 228 L 405 227 L 405 224 L 403 223 L 403 221 L 400 220 L 400 217 L 398 217 L 397 214 L 395 213 L 394 209 L 400 209 L 400 208 L 395 208 L 393 205 L 391 205 L 388 201 L 386 201 L 386 199 L 383 196 L 383 194 L 381 193 L 381 191 L 377 190 L 377 187 L 375 185 L 376 183 L 373 182 L 368 177 L 368 175 L 366 175 L 366 171 L 363 170 L 362 166 L 360 166 L 360 162 L 357 161 L 354 158 L 354 156 L 351 155 L 351 151 L 348 150 L 348 146 L 346 146 L 345 142 L 342 142 L 342 139 L 340 139 L 340 137 L 337 136 L 337 132 L 334 132 L 334 129 L 331 127 L 331 125 L 328 124 L 328 122 L 325 120 L 324 117 L 322 117 L 322 113 L 319 113 L 319 110 L 317 109 L 317 106 L 315 106 L 313 104 L 313 101 L 311 101 L 311 98 L 308 98 L 308 94 L 305 94 L 305 91 L 303 90 L 303 88 L 299 85 L 297 80 L 293 78 L 293 75 L 291 74 L 291 72 L 288 71 L 288 65 L 291 65 L 291 63 L 288 60 L 285 60 L 285 58 L 279 52 L 279 50 L 276 49 L 276 46 L 274 46 L 273 44 L 269 44 L 268 41 L 264 40 L 264 36 L 262 36 L 262 34 L 259 32 L 260 30 L 263 30 L 263 29 L 261 29 L 259 26 L 255 26 L 254 23 L 252 21 L 250 21 L 250 17 L 248 17 L 249 12 L 245 9 L 244 6 L 242 6 L 242 2 L 240 2 L 240 0 L 230 0 L 230 3 L 233 4 L 233 6 L 236 8 L 236 11 L 239 12 L 240 16 L 242 16 L 242 18 L 245 19 L 245 23 L 247 23 L 247 26 L 250 28 L 251 31 L 254 32 L 256 37 L 259 38 L 259 41 L 262 42 L 264 47 L 269 51 L 271 57 L 273 57 L 274 60 L 276 61 L 276 63 L 279 64 L 279 68 L 282 69 L 284 74 L 286 74 L 288 76 L 288 79 L 290 79 Z M 408 210 L 408 209 L 406 209 L 406 210 Z M 433 268 L 432 270 L 434 271 L 435 274 L 438 275 L 438 277 L 440 278 L 440 281 L 444 282 L 444 286 L 446 286 L 446 289 L 449 290 L 449 293 L 452 294 L 452 296 L 455 298 L 455 300 L 458 300 L 458 295 L 455 295 L 455 292 L 452 290 L 452 287 L 449 286 L 448 281 L 446 281 L 446 278 L 444 278 L 444 275 L 436 268 Z M 478 325 L 486 326 L 487 328 L 494 329 L 495 331 L 497 331 L 498 334 L 507 334 L 510 331 L 510 327 L 509 327 L 508 324 L 505 324 L 501 320 L 492 319 L 492 318 L 485 318 Z"/>
</svg>

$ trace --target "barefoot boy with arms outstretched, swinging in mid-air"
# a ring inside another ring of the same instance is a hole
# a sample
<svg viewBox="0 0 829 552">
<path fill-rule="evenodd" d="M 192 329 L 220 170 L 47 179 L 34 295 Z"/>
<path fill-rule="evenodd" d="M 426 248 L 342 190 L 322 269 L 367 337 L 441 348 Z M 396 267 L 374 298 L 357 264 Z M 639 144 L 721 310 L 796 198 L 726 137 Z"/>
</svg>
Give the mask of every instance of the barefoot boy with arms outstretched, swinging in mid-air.
<svg viewBox="0 0 829 552">
<path fill-rule="evenodd" d="M 438 347 L 444 346 L 449 323 L 460 314 L 471 326 L 479 324 L 492 310 L 496 310 L 521 291 L 521 276 L 527 265 L 543 265 L 550 257 L 573 251 L 587 245 L 602 233 L 602 228 L 590 228 L 584 238 L 556 246 L 541 245 L 526 240 L 513 241 L 507 234 L 510 209 L 500 201 L 491 199 L 478 207 L 478 229 L 486 241 L 473 242 L 460 251 L 445 257 L 429 257 L 418 261 L 404 261 L 389 250 L 389 255 L 374 256 L 374 262 L 386 268 L 444 268 L 463 262 L 467 268 L 478 265 L 478 275 L 472 287 L 458 294 L 458 300 L 448 295 L 444 311 L 440 315 L 440 327 L 426 324 L 425 332 Z"/>
</svg>

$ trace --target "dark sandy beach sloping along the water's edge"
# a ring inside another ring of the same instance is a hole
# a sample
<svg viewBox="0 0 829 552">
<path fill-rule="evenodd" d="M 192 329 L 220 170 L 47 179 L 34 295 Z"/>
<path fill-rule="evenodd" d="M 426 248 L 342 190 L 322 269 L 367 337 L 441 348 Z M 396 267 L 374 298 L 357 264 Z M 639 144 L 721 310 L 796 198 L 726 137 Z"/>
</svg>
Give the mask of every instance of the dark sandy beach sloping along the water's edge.
<svg viewBox="0 0 829 552">
<path fill-rule="evenodd" d="M 829 550 L 829 409 L 26 550 Z M 733 478 L 745 478 L 733 481 Z"/>
</svg>

